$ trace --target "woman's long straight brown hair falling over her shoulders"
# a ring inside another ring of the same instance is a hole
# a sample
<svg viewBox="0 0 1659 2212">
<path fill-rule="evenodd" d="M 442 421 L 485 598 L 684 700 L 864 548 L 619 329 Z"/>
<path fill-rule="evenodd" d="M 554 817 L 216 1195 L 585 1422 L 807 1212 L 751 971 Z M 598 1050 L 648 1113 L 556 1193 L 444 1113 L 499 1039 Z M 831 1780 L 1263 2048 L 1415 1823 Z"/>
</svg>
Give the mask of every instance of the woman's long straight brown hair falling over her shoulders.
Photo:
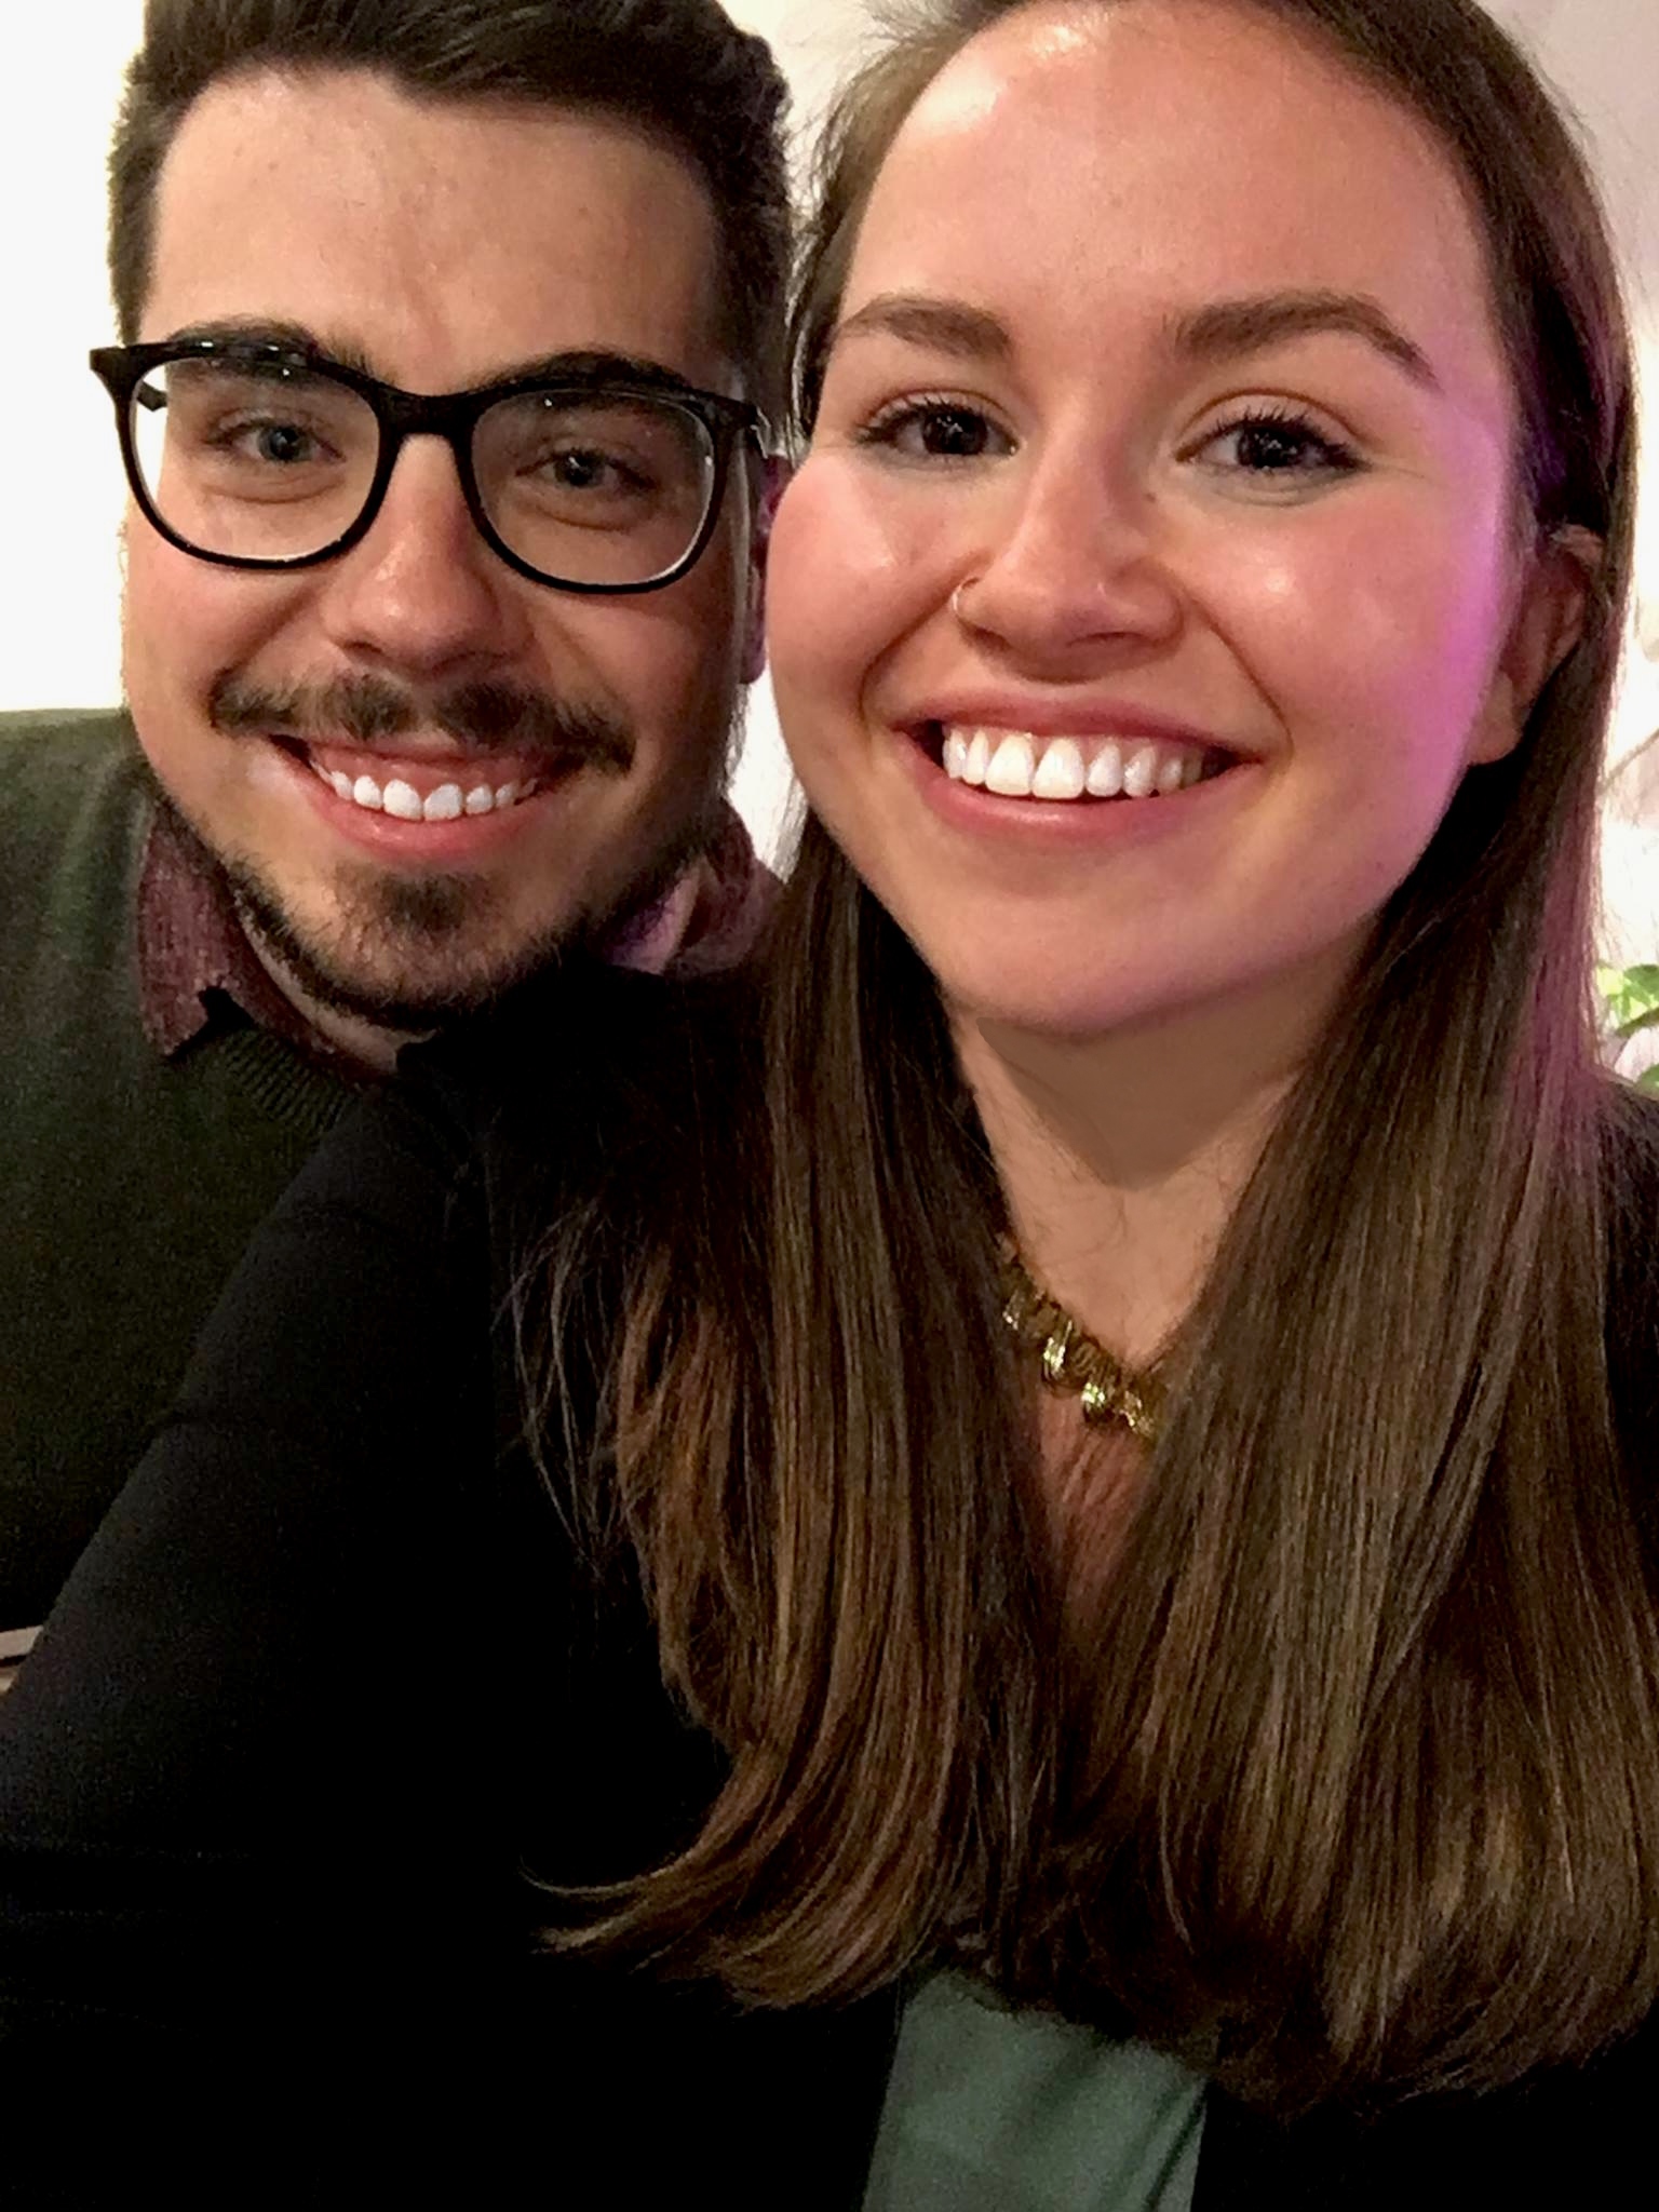
<svg viewBox="0 0 1659 2212">
<path fill-rule="evenodd" d="M 1608 1241 L 1652 1208 L 1659 1135 L 1590 1018 L 1632 425 L 1584 166 L 1469 0 L 1248 4 L 1462 168 L 1524 502 L 1606 549 L 1584 639 L 1467 776 L 1267 1141 L 1082 1670 L 938 993 L 807 825 L 763 1057 L 639 1230 L 611 1376 L 608 1513 L 730 1776 L 580 1940 L 759 2004 L 969 1958 L 1296 2110 L 1493 2086 L 1659 2000 L 1655 1562 L 1606 1354 Z M 1009 11 L 942 0 L 841 102 L 807 422 L 883 150 Z"/>
</svg>

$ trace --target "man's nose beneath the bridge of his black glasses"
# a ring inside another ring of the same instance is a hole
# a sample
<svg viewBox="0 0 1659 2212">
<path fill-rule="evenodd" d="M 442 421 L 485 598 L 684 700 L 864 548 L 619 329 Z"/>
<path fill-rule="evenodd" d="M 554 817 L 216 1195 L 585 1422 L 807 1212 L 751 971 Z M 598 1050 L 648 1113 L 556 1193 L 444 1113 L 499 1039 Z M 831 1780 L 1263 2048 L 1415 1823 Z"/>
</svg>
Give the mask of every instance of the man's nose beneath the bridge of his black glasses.
<svg viewBox="0 0 1659 2212">
<path fill-rule="evenodd" d="M 367 664 L 440 677 L 524 639 L 524 586 L 480 538 L 442 438 L 407 440 L 367 535 L 319 577 L 330 639 Z"/>
</svg>

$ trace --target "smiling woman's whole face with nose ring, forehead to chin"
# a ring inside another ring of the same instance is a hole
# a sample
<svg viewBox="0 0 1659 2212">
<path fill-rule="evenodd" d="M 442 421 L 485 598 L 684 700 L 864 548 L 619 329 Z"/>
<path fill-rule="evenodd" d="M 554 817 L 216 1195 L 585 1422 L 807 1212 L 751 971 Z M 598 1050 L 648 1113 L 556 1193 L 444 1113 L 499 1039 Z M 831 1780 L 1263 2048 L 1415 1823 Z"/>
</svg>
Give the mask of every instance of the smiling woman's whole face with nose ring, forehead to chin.
<svg viewBox="0 0 1659 2212">
<path fill-rule="evenodd" d="M 971 42 L 876 181 L 770 571 L 801 781 L 947 998 L 1323 1009 L 1568 619 L 1513 447 L 1409 113 L 1210 0 Z"/>
</svg>

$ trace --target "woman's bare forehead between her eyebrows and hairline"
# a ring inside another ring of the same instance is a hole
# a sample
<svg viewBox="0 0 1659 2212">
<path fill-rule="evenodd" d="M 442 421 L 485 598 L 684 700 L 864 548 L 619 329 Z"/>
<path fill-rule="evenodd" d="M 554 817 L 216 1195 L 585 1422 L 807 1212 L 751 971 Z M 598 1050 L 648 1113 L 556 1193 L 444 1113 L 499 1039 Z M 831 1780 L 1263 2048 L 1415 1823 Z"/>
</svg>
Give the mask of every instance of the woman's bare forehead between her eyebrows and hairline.
<svg viewBox="0 0 1659 2212">
<path fill-rule="evenodd" d="M 1478 217 L 1431 128 L 1214 0 L 1035 4 L 971 40 L 889 148 L 843 312 L 891 288 L 1057 319 L 1360 294 L 1509 389 Z"/>
</svg>

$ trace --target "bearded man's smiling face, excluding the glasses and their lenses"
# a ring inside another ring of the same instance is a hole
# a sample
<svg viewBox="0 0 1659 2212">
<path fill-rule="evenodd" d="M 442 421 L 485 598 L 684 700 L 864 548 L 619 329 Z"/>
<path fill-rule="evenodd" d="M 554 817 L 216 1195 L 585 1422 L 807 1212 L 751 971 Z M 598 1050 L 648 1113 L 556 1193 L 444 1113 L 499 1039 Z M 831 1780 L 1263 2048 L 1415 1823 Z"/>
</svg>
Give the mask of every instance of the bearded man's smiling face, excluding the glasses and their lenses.
<svg viewBox="0 0 1659 2212">
<path fill-rule="evenodd" d="M 204 93 L 168 153 L 139 336 L 303 332 L 422 394 L 577 352 L 734 392 L 717 254 L 697 173 L 622 122 L 411 100 L 358 71 L 261 73 Z M 553 591 L 489 551 L 451 449 L 416 438 L 367 538 L 316 568 L 219 568 L 133 513 L 126 695 L 283 980 L 418 1029 L 626 907 L 697 841 L 750 560 L 734 465 L 679 584 Z M 358 803 L 365 783 L 473 803 L 403 821 Z"/>
</svg>

